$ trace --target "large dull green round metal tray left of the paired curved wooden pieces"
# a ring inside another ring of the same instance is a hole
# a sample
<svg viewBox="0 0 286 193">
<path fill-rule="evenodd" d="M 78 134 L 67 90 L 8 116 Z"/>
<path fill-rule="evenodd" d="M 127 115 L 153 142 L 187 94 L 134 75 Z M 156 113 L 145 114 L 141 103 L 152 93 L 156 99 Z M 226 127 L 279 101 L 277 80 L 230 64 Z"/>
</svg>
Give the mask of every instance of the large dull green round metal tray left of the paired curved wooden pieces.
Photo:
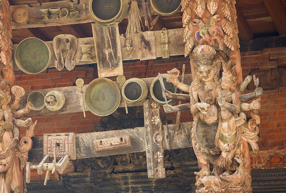
<svg viewBox="0 0 286 193">
<path fill-rule="evenodd" d="M 15 62 L 23 72 L 37 74 L 49 66 L 51 50 L 44 41 L 29 37 L 18 44 L 15 50 Z"/>
</svg>

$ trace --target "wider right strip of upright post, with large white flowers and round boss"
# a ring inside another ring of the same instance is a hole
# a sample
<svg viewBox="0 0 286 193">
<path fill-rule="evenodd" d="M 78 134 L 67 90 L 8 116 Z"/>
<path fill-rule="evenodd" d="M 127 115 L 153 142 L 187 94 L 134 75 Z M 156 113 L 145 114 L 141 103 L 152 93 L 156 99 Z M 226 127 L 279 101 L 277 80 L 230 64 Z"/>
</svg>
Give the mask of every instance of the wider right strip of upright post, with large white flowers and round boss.
<svg viewBox="0 0 286 193">
<path fill-rule="evenodd" d="M 153 138 L 153 165 L 155 178 L 165 178 L 164 168 L 164 149 L 162 146 L 163 132 L 162 122 L 160 119 L 160 105 L 153 100 L 149 100 L 150 107 L 150 125 L 151 125 L 151 136 Z"/>
</svg>

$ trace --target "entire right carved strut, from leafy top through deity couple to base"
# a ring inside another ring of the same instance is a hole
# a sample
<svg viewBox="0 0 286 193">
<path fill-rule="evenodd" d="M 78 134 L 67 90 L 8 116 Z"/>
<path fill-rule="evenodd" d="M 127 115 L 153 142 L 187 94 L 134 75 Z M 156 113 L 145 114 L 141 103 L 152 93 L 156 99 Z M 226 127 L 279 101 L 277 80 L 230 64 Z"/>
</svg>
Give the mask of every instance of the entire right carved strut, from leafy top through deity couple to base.
<svg viewBox="0 0 286 193">
<path fill-rule="evenodd" d="M 260 99 L 245 102 L 263 90 L 254 79 L 255 91 L 243 94 L 251 77 L 242 81 L 235 0 L 185 0 L 181 5 L 185 56 L 190 55 L 193 81 L 180 82 L 177 69 L 168 71 L 167 81 L 189 93 L 190 100 L 183 94 L 165 93 L 168 100 L 190 104 L 164 105 L 164 110 L 190 110 L 193 115 L 192 145 L 200 169 L 194 172 L 197 193 L 251 192 L 249 144 L 257 154 L 261 105 Z M 249 110 L 251 119 L 246 121 L 244 112 Z"/>
</svg>

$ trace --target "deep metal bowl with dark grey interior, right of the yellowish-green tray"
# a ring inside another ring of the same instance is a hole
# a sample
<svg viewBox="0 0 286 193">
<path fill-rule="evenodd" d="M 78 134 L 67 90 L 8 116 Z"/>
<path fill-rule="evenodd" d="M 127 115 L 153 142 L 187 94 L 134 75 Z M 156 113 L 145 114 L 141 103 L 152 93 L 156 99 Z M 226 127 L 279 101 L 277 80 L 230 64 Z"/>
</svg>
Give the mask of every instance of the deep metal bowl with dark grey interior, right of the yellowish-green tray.
<svg viewBox="0 0 286 193">
<path fill-rule="evenodd" d="M 147 97 L 148 88 L 142 79 L 131 78 L 123 84 L 121 93 L 129 104 L 140 105 Z"/>
</svg>

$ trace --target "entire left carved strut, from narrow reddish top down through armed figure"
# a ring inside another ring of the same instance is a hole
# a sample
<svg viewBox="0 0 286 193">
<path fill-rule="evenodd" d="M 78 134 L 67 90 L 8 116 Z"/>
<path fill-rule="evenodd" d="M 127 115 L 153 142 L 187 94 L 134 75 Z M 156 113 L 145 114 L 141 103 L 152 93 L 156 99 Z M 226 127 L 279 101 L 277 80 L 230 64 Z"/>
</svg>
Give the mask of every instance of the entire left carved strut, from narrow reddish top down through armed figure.
<svg viewBox="0 0 286 193">
<path fill-rule="evenodd" d="M 12 63 L 12 41 L 9 3 L 0 1 L 0 192 L 23 192 L 22 171 L 28 160 L 34 136 L 31 118 L 20 120 L 31 111 L 29 102 L 19 110 L 20 100 L 25 94 L 22 87 L 15 86 Z M 19 127 L 29 127 L 26 136 L 20 139 Z"/>
</svg>

